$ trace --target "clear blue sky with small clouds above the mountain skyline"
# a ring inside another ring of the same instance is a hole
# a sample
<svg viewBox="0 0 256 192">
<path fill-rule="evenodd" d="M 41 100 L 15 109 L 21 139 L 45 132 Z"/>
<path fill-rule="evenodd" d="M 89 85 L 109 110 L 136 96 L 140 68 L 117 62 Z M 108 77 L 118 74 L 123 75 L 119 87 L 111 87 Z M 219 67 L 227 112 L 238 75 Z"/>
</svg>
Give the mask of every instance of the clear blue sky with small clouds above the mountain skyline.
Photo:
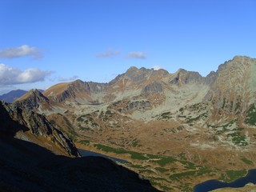
<svg viewBox="0 0 256 192">
<path fill-rule="evenodd" d="M 109 82 L 130 66 L 203 76 L 256 58 L 255 0 L 1 0 L 0 94 Z"/>
</svg>

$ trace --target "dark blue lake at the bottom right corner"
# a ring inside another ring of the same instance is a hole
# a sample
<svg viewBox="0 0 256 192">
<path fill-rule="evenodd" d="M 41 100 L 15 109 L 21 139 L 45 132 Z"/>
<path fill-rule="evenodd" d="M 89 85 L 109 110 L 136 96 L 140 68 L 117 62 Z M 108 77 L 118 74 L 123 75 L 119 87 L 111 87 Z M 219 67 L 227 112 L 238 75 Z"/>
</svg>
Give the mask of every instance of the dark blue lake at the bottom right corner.
<svg viewBox="0 0 256 192">
<path fill-rule="evenodd" d="M 234 182 L 220 182 L 218 180 L 209 180 L 206 182 L 202 182 L 197 186 L 194 186 L 194 192 L 206 192 L 209 190 L 216 190 L 223 187 L 242 187 L 245 186 L 247 183 L 254 183 L 256 184 L 256 169 L 249 170 L 248 174 L 245 177 L 238 178 Z"/>
</svg>

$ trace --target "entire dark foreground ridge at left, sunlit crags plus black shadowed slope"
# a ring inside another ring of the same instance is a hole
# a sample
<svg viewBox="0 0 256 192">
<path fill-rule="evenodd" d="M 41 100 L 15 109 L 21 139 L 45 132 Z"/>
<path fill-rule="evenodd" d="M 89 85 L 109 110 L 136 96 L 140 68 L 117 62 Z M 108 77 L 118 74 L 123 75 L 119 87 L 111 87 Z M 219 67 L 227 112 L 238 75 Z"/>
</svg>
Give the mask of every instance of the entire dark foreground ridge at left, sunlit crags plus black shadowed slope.
<svg viewBox="0 0 256 192">
<path fill-rule="evenodd" d="M 78 158 L 74 143 L 42 114 L 6 102 L 0 149 L 0 191 L 158 191 L 109 159 Z"/>
</svg>

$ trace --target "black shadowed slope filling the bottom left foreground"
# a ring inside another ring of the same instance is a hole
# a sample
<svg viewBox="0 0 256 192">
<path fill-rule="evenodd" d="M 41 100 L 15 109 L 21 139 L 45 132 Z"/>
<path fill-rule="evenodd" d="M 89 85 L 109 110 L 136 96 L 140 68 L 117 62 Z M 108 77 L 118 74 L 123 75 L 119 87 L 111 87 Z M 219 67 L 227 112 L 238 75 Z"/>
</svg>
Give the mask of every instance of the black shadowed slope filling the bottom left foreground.
<svg viewBox="0 0 256 192">
<path fill-rule="evenodd" d="M 0 191 L 158 191 L 109 159 L 58 156 L 14 138 L 30 128 L 10 118 L 14 111 L 5 105 L 0 105 Z"/>
</svg>

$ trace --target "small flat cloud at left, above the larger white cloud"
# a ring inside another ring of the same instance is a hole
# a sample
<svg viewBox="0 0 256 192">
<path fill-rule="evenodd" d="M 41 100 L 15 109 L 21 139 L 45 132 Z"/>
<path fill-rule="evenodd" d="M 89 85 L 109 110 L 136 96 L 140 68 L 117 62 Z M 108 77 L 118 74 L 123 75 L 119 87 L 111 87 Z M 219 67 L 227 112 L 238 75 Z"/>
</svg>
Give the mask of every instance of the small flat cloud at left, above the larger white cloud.
<svg viewBox="0 0 256 192">
<path fill-rule="evenodd" d="M 42 53 L 35 47 L 23 45 L 0 50 L 0 58 L 21 58 L 31 56 L 34 59 L 42 58 Z"/>
</svg>

